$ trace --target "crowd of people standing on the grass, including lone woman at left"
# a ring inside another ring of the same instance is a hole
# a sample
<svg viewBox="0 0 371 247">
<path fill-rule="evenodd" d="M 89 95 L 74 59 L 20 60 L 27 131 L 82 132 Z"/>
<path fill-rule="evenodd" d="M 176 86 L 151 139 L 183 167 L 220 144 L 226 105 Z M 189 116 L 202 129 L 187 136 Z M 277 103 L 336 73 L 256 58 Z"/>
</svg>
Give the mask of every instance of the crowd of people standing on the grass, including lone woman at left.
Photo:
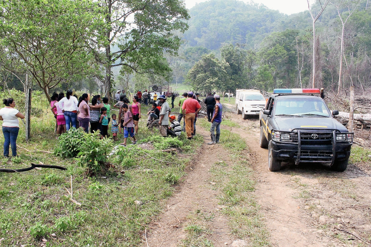
<svg viewBox="0 0 371 247">
<path fill-rule="evenodd" d="M 171 108 L 167 97 L 164 95 L 153 95 L 152 107 L 148 111 L 147 126 L 154 120 L 158 120 L 158 126 L 161 136 L 178 137 L 182 131 L 187 133 L 187 138 L 192 139 L 196 135 L 197 115 L 201 110 L 199 94 L 185 92 L 178 102 L 180 111 L 178 117 L 171 114 L 174 108 L 174 101 L 177 95 L 171 94 Z M 53 93 L 50 106 L 56 119 L 56 132 L 58 135 L 65 133 L 70 128 L 81 128 L 86 133 L 100 131 L 101 139 L 108 136 L 108 126 L 111 123 L 112 138 L 117 141 L 119 134 L 124 134 L 124 142 L 127 145 L 127 138 L 131 138 L 132 144 L 136 144 L 139 119 L 142 118 L 141 102 L 144 99 L 144 105 L 151 102 L 151 93 L 145 90 L 141 93 L 139 90 L 132 98 L 130 103 L 125 90 L 117 91 L 115 95 L 117 103 L 113 108 L 117 108 L 118 115 L 111 114 L 112 108 L 108 103 L 108 98 L 101 99 L 101 95 L 95 95 L 90 99 L 90 95 L 83 93 L 77 98 L 72 90 L 67 90 L 66 96 L 63 92 Z M 158 101 L 157 101 L 158 99 Z M 19 120 L 24 119 L 24 115 L 16 108 L 16 102 L 13 98 L 4 99 L 5 107 L 0 109 L 0 120 L 3 121 L 2 130 L 4 134 L 4 156 L 9 157 L 9 146 L 12 148 L 12 156 L 17 155 L 16 140 L 19 133 Z M 219 95 L 211 95 L 205 99 L 207 105 L 208 120 L 211 122 L 211 142 L 208 144 L 219 143 L 220 122 L 223 106 L 220 104 Z M 211 111 L 213 109 L 213 111 Z M 213 114 L 211 115 L 211 112 Z M 183 128 L 181 119 L 183 118 Z M 216 129 L 216 131 L 215 131 Z M 57 137 L 58 138 L 58 137 Z"/>
</svg>

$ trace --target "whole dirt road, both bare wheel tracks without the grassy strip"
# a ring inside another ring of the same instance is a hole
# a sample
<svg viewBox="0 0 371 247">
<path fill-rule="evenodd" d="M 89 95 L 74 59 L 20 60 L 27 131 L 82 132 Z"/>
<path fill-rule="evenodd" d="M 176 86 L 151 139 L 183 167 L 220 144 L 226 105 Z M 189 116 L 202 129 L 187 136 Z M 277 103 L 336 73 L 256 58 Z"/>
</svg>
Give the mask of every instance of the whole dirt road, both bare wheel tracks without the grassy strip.
<svg viewBox="0 0 371 247">
<path fill-rule="evenodd" d="M 258 119 L 243 120 L 232 114 L 232 121 L 239 126 L 222 128 L 239 134 L 249 146 L 246 157 L 256 180 L 253 193 L 265 215 L 272 246 L 370 246 L 371 171 L 354 164 L 345 172 L 332 172 L 325 165 L 287 164 L 279 172 L 270 172 L 267 150 L 259 147 Z M 185 241 L 184 227 L 200 220 L 200 215 L 209 217 L 204 221 L 210 230 L 206 244 L 200 246 L 229 246 L 237 239 L 230 219 L 220 213 L 218 191 L 209 180 L 213 163 L 232 164 L 233 160 L 221 145 L 206 145 L 209 132 L 197 129 L 205 145 L 187 168 L 189 175 L 178 192 L 167 201 L 164 213 L 149 226 L 150 247 L 191 246 Z"/>
</svg>

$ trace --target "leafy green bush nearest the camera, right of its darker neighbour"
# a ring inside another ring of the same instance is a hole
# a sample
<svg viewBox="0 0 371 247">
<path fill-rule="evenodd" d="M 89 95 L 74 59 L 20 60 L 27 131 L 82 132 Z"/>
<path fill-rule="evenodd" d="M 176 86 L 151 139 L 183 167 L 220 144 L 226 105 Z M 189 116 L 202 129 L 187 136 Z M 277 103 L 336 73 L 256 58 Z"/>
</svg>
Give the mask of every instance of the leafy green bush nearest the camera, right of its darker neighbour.
<svg viewBox="0 0 371 247">
<path fill-rule="evenodd" d="M 108 170 L 104 165 L 107 161 L 107 154 L 112 149 L 112 140 L 107 138 L 99 139 L 98 135 L 99 133 L 85 133 L 83 142 L 80 144 L 80 152 L 77 154 L 78 158 L 76 158 L 78 165 L 88 166 L 90 175 L 96 175 L 105 169 Z"/>
</svg>

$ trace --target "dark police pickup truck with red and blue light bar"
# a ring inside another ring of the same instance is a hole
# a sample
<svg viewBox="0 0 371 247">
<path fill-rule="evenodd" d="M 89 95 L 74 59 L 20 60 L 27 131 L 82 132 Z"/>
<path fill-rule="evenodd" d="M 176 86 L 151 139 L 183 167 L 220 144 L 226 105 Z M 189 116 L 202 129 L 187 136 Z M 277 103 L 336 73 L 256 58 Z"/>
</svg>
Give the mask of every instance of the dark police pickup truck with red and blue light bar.
<svg viewBox="0 0 371 247">
<path fill-rule="evenodd" d="M 282 161 L 321 162 L 334 171 L 348 166 L 353 133 L 333 116 L 319 89 L 275 89 L 260 111 L 260 147 L 268 148 L 270 171 Z"/>
</svg>

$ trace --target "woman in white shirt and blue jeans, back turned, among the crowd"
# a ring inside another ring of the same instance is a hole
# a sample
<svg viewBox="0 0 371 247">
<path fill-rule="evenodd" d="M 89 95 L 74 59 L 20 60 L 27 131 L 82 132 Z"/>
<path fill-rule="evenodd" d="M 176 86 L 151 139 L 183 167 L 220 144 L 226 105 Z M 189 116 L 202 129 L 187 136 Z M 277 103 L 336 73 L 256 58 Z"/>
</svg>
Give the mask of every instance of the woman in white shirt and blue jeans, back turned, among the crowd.
<svg viewBox="0 0 371 247">
<path fill-rule="evenodd" d="M 72 127 L 76 128 L 77 111 L 79 109 L 77 106 L 79 102 L 76 97 L 72 96 L 72 93 L 72 90 L 68 90 L 66 97 L 58 102 L 59 108 L 62 109 L 63 115 L 65 115 L 67 131 L 70 129 L 71 123 Z"/>
</svg>

